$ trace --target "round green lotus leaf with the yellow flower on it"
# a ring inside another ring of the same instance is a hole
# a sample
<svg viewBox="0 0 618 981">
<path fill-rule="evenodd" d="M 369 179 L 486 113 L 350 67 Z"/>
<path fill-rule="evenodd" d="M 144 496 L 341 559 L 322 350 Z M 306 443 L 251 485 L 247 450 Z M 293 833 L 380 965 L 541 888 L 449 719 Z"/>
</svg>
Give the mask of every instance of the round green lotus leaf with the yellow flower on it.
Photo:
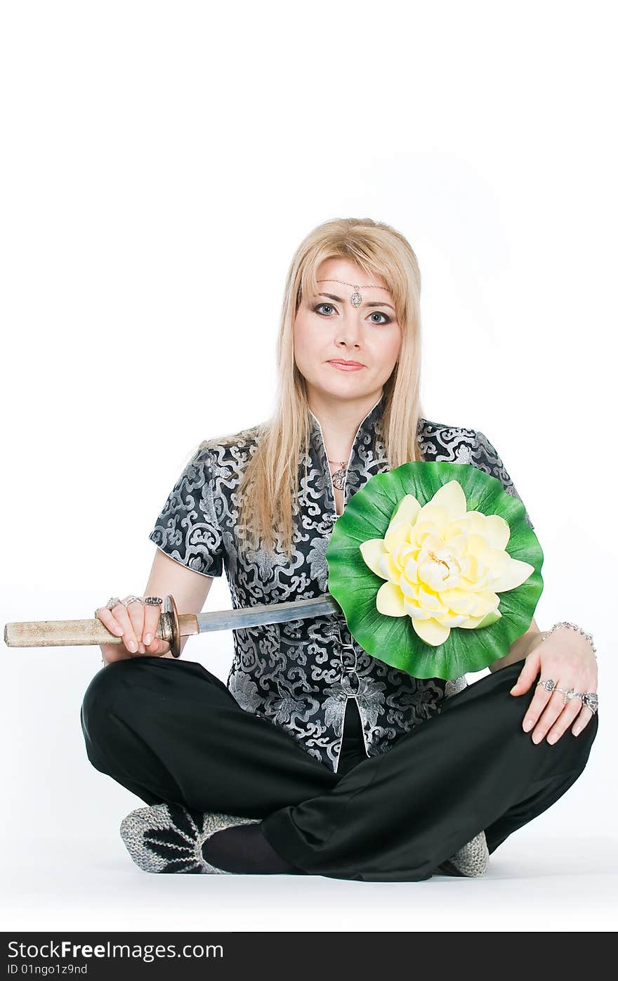
<svg viewBox="0 0 618 981">
<path fill-rule="evenodd" d="M 508 653 L 542 592 L 521 500 L 468 463 L 418 461 L 352 495 L 326 551 L 329 593 L 368 653 L 458 678 Z"/>
</svg>

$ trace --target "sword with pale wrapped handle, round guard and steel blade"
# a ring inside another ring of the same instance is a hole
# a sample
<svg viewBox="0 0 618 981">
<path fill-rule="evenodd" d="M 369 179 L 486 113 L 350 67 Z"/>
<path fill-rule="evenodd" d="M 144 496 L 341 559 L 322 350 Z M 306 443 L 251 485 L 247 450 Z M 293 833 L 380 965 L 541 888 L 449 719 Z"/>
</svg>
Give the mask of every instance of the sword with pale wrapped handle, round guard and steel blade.
<svg viewBox="0 0 618 981">
<path fill-rule="evenodd" d="M 172 594 L 165 596 L 155 637 L 167 641 L 175 657 L 180 657 L 180 640 L 213 630 L 238 630 L 268 623 L 286 623 L 307 617 L 340 614 L 335 598 L 324 593 L 313 599 L 286 603 L 258 603 L 240 609 L 213 610 L 211 613 L 179 613 Z M 7 623 L 4 643 L 8 647 L 70 647 L 95 644 L 122 644 L 97 617 L 93 620 L 32 620 Z"/>
</svg>

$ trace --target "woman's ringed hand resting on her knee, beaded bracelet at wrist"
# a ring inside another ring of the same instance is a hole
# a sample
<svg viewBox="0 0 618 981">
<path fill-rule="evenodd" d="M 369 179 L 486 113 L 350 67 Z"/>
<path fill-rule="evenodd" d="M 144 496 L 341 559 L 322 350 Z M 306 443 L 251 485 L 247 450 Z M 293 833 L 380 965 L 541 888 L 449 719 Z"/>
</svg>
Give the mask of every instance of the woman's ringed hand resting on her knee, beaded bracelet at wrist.
<svg viewBox="0 0 618 981">
<path fill-rule="evenodd" d="M 597 668 L 592 647 L 586 638 L 568 627 L 554 631 L 528 654 L 510 694 L 518 696 L 528 692 L 540 671 L 539 681 L 551 678 L 555 688 L 564 691 L 572 688 L 582 694 L 596 692 Z M 525 732 L 530 732 L 537 724 L 532 734 L 534 743 L 541 743 L 545 735 L 547 743 L 556 743 L 574 719 L 575 725 L 571 731 L 578 736 L 592 719 L 592 709 L 581 698 L 574 696 L 565 704 L 563 693 L 556 692 L 555 688 L 553 692 L 547 692 L 537 683 L 535 697 L 523 723 Z"/>
</svg>

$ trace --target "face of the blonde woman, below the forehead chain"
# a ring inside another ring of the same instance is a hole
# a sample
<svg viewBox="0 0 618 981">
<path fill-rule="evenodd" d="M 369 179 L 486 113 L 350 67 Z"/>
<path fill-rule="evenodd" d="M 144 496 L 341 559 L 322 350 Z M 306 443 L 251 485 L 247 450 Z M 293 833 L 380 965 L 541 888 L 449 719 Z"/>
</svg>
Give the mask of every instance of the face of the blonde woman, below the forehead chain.
<svg viewBox="0 0 618 981">
<path fill-rule="evenodd" d="M 376 399 L 396 364 L 401 345 L 401 328 L 394 301 L 384 280 L 368 280 L 349 259 L 328 259 L 318 270 L 319 294 L 308 296 L 298 308 L 294 320 L 294 359 L 307 382 L 310 401 L 324 397 Z M 360 284 L 363 302 L 354 307 L 352 286 L 332 281 Z M 329 293 L 327 296 L 325 293 Z M 333 360 L 356 361 L 358 371 L 340 370 Z"/>
</svg>

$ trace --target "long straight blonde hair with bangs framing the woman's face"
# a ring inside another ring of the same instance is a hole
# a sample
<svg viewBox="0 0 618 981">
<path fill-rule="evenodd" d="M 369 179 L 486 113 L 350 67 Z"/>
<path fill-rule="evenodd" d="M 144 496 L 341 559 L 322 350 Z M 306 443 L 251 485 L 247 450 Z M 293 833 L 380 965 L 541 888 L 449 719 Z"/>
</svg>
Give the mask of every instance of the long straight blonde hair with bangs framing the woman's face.
<svg viewBox="0 0 618 981">
<path fill-rule="evenodd" d="M 256 447 L 247 460 L 241 490 L 238 489 L 235 528 L 242 541 L 250 548 L 274 549 L 278 537 L 289 561 L 300 454 L 309 445 L 313 423 L 305 380 L 294 361 L 294 319 L 303 297 L 319 291 L 316 279 L 320 264 L 334 258 L 355 262 L 368 277 L 382 277 L 394 299 L 401 344 L 397 363 L 383 390 L 383 439 L 389 469 L 422 459 L 418 443 L 422 413 L 421 274 L 416 255 L 407 239 L 384 222 L 371 218 L 325 222 L 301 241 L 287 272 L 277 341 L 275 410 L 269 420 L 257 427 Z M 218 441 L 221 443 L 222 439 Z"/>
</svg>

